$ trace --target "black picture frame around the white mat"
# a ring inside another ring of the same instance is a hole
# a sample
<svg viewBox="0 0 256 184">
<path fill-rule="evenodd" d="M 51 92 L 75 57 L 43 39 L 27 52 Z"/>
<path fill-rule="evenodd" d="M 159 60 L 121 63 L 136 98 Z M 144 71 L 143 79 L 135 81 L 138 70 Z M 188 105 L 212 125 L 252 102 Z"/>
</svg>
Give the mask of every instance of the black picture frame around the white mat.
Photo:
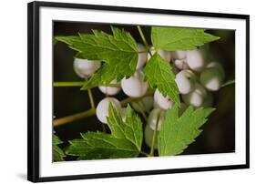
<svg viewBox="0 0 256 184">
<path fill-rule="evenodd" d="M 39 8 L 46 7 L 61 7 L 73 9 L 92 9 L 92 10 L 111 10 L 118 12 L 136 12 L 150 14 L 165 14 L 165 15 L 191 15 L 191 16 L 206 16 L 220 18 L 235 18 L 244 19 L 246 21 L 246 164 L 219 166 L 219 167 L 202 167 L 189 169 L 159 169 L 159 170 L 140 170 L 131 172 L 118 173 L 102 173 L 102 174 L 87 174 L 73 175 L 61 177 L 46 177 L 39 176 Z M 235 14 L 219 14 L 194 11 L 178 11 L 167 9 L 149 9 L 136 7 L 121 7 L 109 5 L 81 5 L 68 3 L 51 3 L 51 2 L 32 2 L 27 5 L 27 57 L 28 57 L 28 88 L 27 88 L 27 179 L 33 182 L 40 181 L 56 181 L 68 179 L 96 179 L 110 177 L 125 177 L 139 175 L 155 175 L 169 174 L 180 172 L 195 172 L 207 170 L 223 170 L 223 169 L 249 169 L 250 167 L 250 15 L 235 15 Z"/>
</svg>

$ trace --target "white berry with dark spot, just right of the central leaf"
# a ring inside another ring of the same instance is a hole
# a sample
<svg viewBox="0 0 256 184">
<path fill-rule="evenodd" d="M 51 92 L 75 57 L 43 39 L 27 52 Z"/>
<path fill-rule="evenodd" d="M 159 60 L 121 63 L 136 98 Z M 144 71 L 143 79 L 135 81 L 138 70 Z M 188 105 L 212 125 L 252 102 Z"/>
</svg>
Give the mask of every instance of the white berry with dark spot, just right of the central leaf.
<svg viewBox="0 0 256 184">
<path fill-rule="evenodd" d="M 188 94 L 194 89 L 196 83 L 195 74 L 189 70 L 181 70 L 175 77 L 180 94 Z"/>
</svg>

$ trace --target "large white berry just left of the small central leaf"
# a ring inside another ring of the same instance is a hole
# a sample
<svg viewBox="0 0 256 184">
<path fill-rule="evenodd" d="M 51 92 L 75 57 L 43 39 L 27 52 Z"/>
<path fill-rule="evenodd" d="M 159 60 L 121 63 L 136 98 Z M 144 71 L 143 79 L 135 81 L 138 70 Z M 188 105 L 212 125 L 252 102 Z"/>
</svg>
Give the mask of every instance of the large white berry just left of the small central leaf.
<svg viewBox="0 0 256 184">
<path fill-rule="evenodd" d="M 121 87 L 128 97 L 142 97 L 148 90 L 148 83 L 144 81 L 144 73 L 137 70 L 132 77 L 122 79 Z"/>
</svg>

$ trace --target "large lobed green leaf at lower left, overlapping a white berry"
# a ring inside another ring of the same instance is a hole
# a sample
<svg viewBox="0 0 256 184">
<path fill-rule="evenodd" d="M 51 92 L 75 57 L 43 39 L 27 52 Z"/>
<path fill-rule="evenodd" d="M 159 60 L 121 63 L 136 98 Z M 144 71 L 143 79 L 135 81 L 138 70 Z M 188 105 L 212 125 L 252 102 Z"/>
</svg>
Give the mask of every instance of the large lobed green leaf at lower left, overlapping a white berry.
<svg viewBox="0 0 256 184">
<path fill-rule="evenodd" d="M 117 109 L 109 106 L 108 126 L 111 134 L 87 132 L 82 139 L 70 141 L 67 154 L 78 159 L 134 158 L 138 157 L 142 145 L 142 122 L 131 107 L 127 107 L 123 122 Z"/>
</svg>

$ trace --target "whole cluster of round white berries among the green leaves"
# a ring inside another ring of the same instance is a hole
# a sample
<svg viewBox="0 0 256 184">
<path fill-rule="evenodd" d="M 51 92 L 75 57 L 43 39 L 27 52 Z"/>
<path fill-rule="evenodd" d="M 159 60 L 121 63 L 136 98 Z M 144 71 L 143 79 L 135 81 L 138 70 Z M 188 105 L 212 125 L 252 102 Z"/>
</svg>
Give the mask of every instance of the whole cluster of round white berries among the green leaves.
<svg viewBox="0 0 256 184">
<path fill-rule="evenodd" d="M 128 97 L 143 97 L 148 91 L 148 83 L 144 80 L 143 66 L 150 59 L 143 45 L 138 44 L 138 64 L 136 72 L 132 77 L 123 78 L 121 87 L 98 87 L 99 90 L 108 96 L 117 95 L 121 89 Z M 145 52 L 143 52 L 145 51 Z M 151 54 L 155 53 L 151 47 Z M 179 88 L 182 101 L 179 113 L 181 114 L 189 105 L 193 107 L 212 106 L 213 97 L 211 91 L 220 89 L 224 80 L 224 69 L 217 62 L 208 62 L 204 59 L 200 50 L 168 52 L 159 49 L 159 56 L 171 63 L 176 74 L 175 81 Z M 100 61 L 89 61 L 87 59 L 76 58 L 74 69 L 79 77 L 90 77 L 101 66 Z M 111 84 L 118 84 L 113 80 Z M 105 97 L 97 104 L 96 115 L 99 121 L 107 124 L 108 106 L 112 103 L 118 109 L 122 118 L 125 119 L 125 108 L 121 107 L 120 102 L 115 97 Z M 169 97 L 164 97 L 158 89 L 153 96 L 143 97 L 131 106 L 138 112 L 149 113 L 148 124 L 145 128 L 145 142 L 150 147 L 152 134 L 159 120 L 159 131 L 161 121 L 165 111 L 174 106 L 174 102 Z M 157 148 L 157 143 L 155 148 Z"/>
</svg>

